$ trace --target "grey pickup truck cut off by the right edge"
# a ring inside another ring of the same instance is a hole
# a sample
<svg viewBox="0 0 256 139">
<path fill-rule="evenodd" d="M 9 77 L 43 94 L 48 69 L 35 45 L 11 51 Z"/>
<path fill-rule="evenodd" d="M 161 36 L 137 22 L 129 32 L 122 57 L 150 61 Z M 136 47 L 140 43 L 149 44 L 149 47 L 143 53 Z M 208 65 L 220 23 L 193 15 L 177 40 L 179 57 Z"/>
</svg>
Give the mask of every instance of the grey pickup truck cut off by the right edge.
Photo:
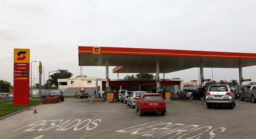
<svg viewBox="0 0 256 139">
<path fill-rule="evenodd" d="M 247 85 L 239 92 L 239 100 L 250 99 L 252 103 L 256 103 L 256 85 Z"/>
</svg>

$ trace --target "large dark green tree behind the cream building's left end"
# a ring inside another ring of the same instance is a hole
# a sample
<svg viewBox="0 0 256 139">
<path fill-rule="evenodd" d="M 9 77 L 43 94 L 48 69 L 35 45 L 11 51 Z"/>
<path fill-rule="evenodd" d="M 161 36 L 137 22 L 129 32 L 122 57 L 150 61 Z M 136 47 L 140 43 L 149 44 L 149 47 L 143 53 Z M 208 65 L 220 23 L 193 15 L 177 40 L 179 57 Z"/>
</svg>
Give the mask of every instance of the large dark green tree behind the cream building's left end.
<svg viewBox="0 0 256 139">
<path fill-rule="evenodd" d="M 52 86 L 58 88 L 58 79 L 67 79 L 72 77 L 73 74 L 69 72 L 68 70 L 62 70 L 59 69 L 57 72 L 50 75 L 50 79 L 46 81 L 46 84 L 50 84 L 50 89 L 52 89 Z"/>
</svg>

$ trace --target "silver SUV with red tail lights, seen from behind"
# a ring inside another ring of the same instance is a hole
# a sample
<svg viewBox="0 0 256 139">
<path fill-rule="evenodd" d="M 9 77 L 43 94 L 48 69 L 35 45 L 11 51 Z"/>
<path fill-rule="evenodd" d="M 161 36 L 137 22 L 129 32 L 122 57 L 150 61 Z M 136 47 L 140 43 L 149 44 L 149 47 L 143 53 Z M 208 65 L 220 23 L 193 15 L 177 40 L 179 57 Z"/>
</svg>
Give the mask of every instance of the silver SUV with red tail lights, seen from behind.
<svg viewBox="0 0 256 139">
<path fill-rule="evenodd" d="M 236 106 L 236 96 L 229 85 L 210 85 L 205 95 L 207 108 L 228 105 L 229 109 L 233 109 Z"/>
</svg>

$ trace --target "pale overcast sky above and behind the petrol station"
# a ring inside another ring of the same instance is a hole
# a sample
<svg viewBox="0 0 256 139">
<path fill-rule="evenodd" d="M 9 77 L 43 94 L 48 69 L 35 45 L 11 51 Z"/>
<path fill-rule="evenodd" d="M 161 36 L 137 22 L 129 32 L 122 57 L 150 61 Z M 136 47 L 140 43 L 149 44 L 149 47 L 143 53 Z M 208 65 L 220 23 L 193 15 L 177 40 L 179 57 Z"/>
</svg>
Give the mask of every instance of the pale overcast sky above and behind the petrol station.
<svg viewBox="0 0 256 139">
<path fill-rule="evenodd" d="M 30 49 L 45 80 L 58 69 L 80 75 L 78 46 L 256 53 L 255 7 L 255 0 L 1 0 L 0 80 L 13 85 L 14 48 Z M 34 83 L 38 66 L 33 62 Z M 113 68 L 110 79 L 117 79 Z M 256 81 L 255 69 L 243 68 L 243 78 Z M 216 81 L 238 74 L 204 68 L 204 78 Z M 84 66 L 83 75 L 106 78 L 105 67 Z M 198 68 L 165 74 L 173 77 L 198 80 Z"/>
</svg>

